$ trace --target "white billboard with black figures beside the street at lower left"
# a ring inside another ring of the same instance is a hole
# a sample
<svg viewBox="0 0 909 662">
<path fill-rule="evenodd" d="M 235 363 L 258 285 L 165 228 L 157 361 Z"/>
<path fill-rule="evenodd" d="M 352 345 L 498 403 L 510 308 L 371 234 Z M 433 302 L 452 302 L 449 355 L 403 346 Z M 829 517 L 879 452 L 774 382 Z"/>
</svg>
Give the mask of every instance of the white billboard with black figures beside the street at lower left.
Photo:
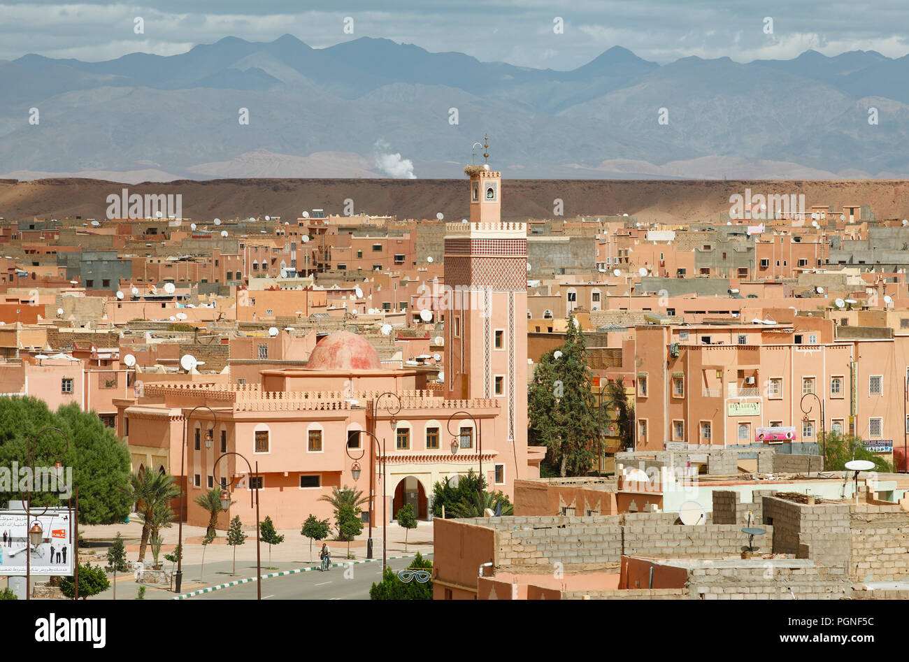
<svg viewBox="0 0 909 662">
<path fill-rule="evenodd" d="M 35 508 L 41 512 L 43 508 Z M 34 513 L 33 510 L 33 513 Z M 72 575 L 74 540 L 73 512 L 69 508 L 48 508 L 44 515 L 28 517 L 42 529 L 41 542 L 31 545 L 24 510 L 0 510 L 0 575 L 25 575 L 25 555 L 31 553 L 32 575 Z"/>
</svg>

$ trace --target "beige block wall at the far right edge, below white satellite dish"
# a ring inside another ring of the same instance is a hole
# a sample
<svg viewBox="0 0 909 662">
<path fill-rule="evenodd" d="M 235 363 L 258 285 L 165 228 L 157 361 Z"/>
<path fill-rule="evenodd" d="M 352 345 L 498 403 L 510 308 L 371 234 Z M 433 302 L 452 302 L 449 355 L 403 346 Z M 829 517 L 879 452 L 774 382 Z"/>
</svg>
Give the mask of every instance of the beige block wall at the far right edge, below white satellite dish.
<svg viewBox="0 0 909 662">
<path fill-rule="evenodd" d="M 901 581 L 909 577 L 909 513 L 899 506 L 852 507 L 852 577 Z"/>
</svg>

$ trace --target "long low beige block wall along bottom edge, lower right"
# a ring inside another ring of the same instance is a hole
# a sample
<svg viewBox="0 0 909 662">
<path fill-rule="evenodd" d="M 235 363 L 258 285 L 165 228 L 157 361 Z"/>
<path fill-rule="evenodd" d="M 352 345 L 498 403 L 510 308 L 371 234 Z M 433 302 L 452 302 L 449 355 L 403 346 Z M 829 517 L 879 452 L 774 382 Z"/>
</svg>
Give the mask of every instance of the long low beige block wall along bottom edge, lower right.
<svg viewBox="0 0 909 662">
<path fill-rule="evenodd" d="M 688 591 L 695 600 L 838 600 L 851 587 L 843 567 L 698 567 Z"/>
</svg>

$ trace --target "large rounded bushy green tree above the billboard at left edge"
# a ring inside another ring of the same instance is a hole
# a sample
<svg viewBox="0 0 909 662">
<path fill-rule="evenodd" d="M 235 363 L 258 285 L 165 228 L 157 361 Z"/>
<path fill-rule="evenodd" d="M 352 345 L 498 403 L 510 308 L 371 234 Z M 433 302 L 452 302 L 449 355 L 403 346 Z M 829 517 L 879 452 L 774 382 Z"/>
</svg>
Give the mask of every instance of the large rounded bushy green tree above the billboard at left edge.
<svg viewBox="0 0 909 662">
<path fill-rule="evenodd" d="M 129 450 L 115 432 L 94 412 L 78 405 L 61 406 L 56 412 L 35 397 L 0 397 L 0 466 L 28 466 L 27 439 L 47 427 L 59 427 L 69 437 L 45 432 L 35 440 L 35 466 L 53 466 L 56 460 L 73 468 L 72 480 L 79 487 L 81 524 L 117 524 L 130 512 Z M 65 451 L 65 452 L 64 452 Z M 57 457 L 55 454 L 63 453 Z M 22 492 L 0 492 L 0 501 L 24 499 Z M 35 507 L 59 506 L 60 494 L 33 492 Z"/>
</svg>

